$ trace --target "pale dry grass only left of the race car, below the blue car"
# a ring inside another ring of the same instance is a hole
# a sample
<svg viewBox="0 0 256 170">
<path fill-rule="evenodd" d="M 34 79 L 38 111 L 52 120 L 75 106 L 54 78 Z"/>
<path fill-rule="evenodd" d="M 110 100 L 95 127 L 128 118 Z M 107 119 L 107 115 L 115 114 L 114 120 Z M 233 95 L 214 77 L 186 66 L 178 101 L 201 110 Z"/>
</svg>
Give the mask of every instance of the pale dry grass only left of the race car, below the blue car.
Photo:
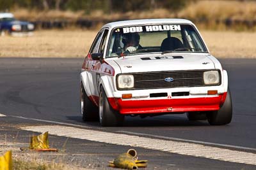
<svg viewBox="0 0 256 170">
<path fill-rule="evenodd" d="M 36 31 L 31 37 L 0 37 L 0 57 L 83 57 L 95 31 Z"/>
</svg>

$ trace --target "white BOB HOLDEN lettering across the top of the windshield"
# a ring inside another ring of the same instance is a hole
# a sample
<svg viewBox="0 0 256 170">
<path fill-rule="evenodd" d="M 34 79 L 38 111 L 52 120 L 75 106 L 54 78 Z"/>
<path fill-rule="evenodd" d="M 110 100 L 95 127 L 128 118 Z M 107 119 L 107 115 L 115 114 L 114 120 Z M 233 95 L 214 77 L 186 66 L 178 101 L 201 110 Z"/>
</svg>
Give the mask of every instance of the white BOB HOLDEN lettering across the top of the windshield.
<svg viewBox="0 0 256 170">
<path fill-rule="evenodd" d="M 147 26 L 140 26 L 140 27 L 124 27 L 123 32 L 130 33 L 130 32 L 153 32 L 153 31 L 180 31 L 180 25 L 147 25 Z M 116 32 L 119 32 L 116 30 Z"/>
</svg>

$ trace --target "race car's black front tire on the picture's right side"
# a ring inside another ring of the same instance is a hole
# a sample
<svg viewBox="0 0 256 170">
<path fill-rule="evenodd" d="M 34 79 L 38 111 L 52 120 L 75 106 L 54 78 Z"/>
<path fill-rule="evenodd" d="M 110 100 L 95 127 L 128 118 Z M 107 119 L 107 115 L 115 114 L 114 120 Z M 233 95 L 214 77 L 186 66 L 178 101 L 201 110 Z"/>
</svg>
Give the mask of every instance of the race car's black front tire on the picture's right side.
<svg viewBox="0 0 256 170">
<path fill-rule="evenodd" d="M 228 89 L 227 97 L 220 110 L 212 111 L 207 114 L 207 120 L 210 125 L 226 125 L 232 120 L 232 99 Z"/>
</svg>

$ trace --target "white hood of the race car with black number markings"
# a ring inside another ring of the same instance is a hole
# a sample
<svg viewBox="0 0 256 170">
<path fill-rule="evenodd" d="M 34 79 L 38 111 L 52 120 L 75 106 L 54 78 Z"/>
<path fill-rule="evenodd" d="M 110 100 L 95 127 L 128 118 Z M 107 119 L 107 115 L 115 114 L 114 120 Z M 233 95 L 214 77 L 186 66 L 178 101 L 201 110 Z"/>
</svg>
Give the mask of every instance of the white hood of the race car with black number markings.
<svg viewBox="0 0 256 170">
<path fill-rule="evenodd" d="M 116 59 L 115 62 L 121 73 L 215 69 L 214 62 L 205 53 L 130 55 Z"/>
</svg>

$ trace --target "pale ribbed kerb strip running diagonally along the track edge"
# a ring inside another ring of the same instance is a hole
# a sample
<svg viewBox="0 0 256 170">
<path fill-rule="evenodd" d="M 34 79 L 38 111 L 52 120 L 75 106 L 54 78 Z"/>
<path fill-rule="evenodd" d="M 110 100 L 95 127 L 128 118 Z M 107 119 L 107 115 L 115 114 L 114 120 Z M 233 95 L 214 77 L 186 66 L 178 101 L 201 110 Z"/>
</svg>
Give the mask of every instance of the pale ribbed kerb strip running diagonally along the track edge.
<svg viewBox="0 0 256 170">
<path fill-rule="evenodd" d="M 81 129 L 77 127 L 64 127 L 61 125 L 30 126 L 21 127 L 20 129 L 34 132 L 48 131 L 49 134 L 55 134 L 57 136 L 86 139 L 89 141 L 111 143 L 116 145 L 136 146 L 152 150 L 178 153 L 180 155 L 189 155 L 194 157 L 204 157 L 208 159 L 256 165 L 255 153 L 233 151 L 225 148 L 205 146 L 196 143 L 172 141 L 170 139 L 152 139 L 128 134 L 116 134 L 112 132 Z M 70 132 L 74 132 L 74 134 Z"/>
</svg>

